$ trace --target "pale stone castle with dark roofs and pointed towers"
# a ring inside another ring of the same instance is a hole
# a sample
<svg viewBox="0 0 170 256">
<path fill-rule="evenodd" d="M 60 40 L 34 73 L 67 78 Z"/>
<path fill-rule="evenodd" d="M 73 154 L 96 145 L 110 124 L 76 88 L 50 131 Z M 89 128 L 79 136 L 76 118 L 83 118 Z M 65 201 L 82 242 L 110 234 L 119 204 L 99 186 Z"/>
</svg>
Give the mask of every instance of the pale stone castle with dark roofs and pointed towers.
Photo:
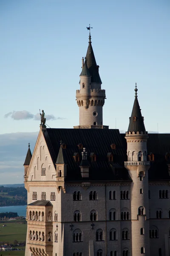
<svg viewBox="0 0 170 256">
<path fill-rule="evenodd" d="M 79 125 L 28 147 L 25 255 L 169 256 L 170 135 L 147 134 L 137 87 L 126 134 L 103 125 L 91 35 L 79 84 Z"/>
</svg>

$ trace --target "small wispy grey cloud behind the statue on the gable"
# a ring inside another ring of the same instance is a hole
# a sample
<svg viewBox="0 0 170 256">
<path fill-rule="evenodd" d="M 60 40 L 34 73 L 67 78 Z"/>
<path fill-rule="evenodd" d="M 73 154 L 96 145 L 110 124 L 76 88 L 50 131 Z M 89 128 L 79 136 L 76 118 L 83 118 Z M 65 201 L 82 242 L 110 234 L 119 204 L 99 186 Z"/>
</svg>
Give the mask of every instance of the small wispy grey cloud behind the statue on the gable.
<svg viewBox="0 0 170 256">
<path fill-rule="evenodd" d="M 14 120 L 27 120 L 27 119 L 34 119 L 34 120 L 40 120 L 40 113 L 37 113 L 36 115 L 30 113 L 29 111 L 23 110 L 23 111 L 13 111 L 6 113 L 4 115 L 5 118 L 11 117 Z M 65 119 L 64 117 L 55 117 L 53 114 L 51 115 L 45 115 L 46 120 L 62 120 Z"/>
</svg>

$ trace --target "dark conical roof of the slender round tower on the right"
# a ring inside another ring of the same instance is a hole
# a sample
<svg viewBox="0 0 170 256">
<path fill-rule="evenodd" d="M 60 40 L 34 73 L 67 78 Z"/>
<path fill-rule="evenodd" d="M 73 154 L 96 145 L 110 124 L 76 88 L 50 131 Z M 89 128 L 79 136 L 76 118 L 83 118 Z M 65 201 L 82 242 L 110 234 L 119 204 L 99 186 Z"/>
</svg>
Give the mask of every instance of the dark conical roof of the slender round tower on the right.
<svg viewBox="0 0 170 256">
<path fill-rule="evenodd" d="M 138 96 L 137 96 L 137 91 L 138 89 L 135 87 L 135 101 L 134 101 L 134 104 L 133 104 L 133 109 L 132 109 L 132 114 L 131 114 L 131 117 L 130 117 L 130 122 L 129 122 L 129 127 L 128 127 L 128 130 L 127 131 L 130 131 L 130 132 L 145 132 L 145 127 L 144 127 L 144 118 L 141 114 L 141 109 L 140 109 L 140 106 L 139 106 L 139 102 L 138 102 Z"/>
</svg>

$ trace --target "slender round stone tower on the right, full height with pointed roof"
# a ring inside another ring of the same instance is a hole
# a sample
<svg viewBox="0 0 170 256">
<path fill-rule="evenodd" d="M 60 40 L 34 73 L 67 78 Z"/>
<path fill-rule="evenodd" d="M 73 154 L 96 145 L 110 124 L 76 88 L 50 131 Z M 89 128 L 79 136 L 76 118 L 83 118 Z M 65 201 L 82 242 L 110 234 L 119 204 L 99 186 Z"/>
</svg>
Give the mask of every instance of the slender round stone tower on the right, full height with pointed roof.
<svg viewBox="0 0 170 256">
<path fill-rule="evenodd" d="M 132 256 L 150 256 L 147 131 L 141 114 L 135 87 L 135 101 L 126 132 L 127 162 L 125 167 L 132 178 L 130 189 L 132 222 Z"/>
</svg>

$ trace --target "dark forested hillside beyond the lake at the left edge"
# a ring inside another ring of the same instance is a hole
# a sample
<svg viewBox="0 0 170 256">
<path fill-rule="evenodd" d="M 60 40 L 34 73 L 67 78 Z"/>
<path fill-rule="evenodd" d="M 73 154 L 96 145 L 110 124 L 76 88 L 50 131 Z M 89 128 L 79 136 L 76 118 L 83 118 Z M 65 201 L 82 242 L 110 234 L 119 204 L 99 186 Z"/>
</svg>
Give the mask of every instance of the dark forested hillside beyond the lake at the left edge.
<svg viewBox="0 0 170 256">
<path fill-rule="evenodd" d="M 0 186 L 0 206 L 26 205 L 27 191 L 24 187 Z"/>
</svg>

